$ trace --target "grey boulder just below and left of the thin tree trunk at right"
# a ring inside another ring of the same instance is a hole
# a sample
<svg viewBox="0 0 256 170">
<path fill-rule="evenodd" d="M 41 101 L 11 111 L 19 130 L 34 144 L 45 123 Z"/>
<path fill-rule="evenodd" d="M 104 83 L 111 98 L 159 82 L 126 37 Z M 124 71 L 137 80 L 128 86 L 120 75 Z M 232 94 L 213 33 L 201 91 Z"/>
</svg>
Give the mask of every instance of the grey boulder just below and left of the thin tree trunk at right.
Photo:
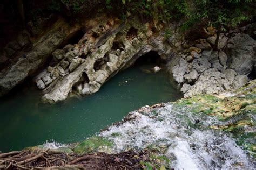
<svg viewBox="0 0 256 170">
<path fill-rule="evenodd" d="M 208 62 L 207 58 L 194 59 L 191 65 L 192 69 L 197 70 L 199 74 L 212 66 L 211 63 Z"/>
</svg>

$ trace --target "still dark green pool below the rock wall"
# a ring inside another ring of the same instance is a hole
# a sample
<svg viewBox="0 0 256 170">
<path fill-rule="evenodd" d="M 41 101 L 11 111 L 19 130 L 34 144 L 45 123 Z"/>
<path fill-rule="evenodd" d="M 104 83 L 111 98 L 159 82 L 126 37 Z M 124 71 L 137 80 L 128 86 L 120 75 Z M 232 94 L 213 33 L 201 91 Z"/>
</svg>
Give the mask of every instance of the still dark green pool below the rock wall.
<svg viewBox="0 0 256 170">
<path fill-rule="evenodd" d="M 0 151 L 21 150 L 54 140 L 74 143 L 120 121 L 143 105 L 182 97 L 165 70 L 145 73 L 152 64 L 133 66 L 107 81 L 96 93 L 58 104 L 40 102 L 41 91 L 27 88 L 1 98 Z"/>
</svg>

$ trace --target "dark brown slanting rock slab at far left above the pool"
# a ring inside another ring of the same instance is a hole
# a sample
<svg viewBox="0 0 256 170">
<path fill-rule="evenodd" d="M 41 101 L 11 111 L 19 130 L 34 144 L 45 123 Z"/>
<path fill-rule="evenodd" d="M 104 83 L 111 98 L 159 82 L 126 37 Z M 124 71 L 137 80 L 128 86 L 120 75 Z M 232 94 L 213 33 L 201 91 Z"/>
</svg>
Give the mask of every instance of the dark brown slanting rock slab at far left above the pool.
<svg viewBox="0 0 256 170">
<path fill-rule="evenodd" d="M 52 52 L 62 44 L 65 37 L 73 33 L 66 24 L 62 18 L 59 18 L 55 24 L 49 26 L 50 31 L 42 33 L 39 38 L 31 42 L 30 48 L 27 49 L 28 51 L 19 51 L 19 53 L 14 54 L 14 58 L 17 58 L 17 60 L 9 63 L 8 69 L 0 71 L 0 75 L 4 75 L 0 79 L 0 96 L 8 93 L 17 84 L 22 83 L 26 77 L 35 76 L 38 70 L 51 57 Z M 63 27 L 63 30 L 59 30 L 60 27 Z M 23 38 L 18 38 L 17 43 L 12 47 L 16 48 L 17 44 L 21 48 L 28 42 L 28 38 L 23 36 Z M 42 83 L 39 84 L 41 84 L 39 87 L 44 87 Z"/>
</svg>

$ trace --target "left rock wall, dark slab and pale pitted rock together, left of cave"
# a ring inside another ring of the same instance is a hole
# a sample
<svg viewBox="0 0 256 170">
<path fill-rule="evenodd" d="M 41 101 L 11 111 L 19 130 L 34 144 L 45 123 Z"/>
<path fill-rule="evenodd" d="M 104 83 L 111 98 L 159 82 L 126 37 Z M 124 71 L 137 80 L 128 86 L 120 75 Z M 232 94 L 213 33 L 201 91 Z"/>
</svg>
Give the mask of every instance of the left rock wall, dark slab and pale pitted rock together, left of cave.
<svg viewBox="0 0 256 170">
<path fill-rule="evenodd" d="M 50 103 L 65 100 L 72 90 L 84 95 L 95 93 L 106 80 L 147 52 L 157 52 L 165 62 L 177 52 L 179 44 L 169 45 L 164 38 L 166 26 L 160 21 L 144 24 L 136 18 L 122 22 L 105 16 L 75 25 L 57 20 L 48 32 L 32 42 L 29 52 L 18 51 L 12 56 L 16 61 L 10 62 L 1 73 L 1 94 L 26 77 L 35 76 L 42 66 L 45 70 L 34 80 L 45 91 L 44 100 Z M 174 32 L 174 25 L 168 27 Z M 84 30 L 84 35 L 75 44 L 66 45 L 66 39 L 79 29 Z M 56 49 L 61 45 L 65 46 Z"/>
</svg>

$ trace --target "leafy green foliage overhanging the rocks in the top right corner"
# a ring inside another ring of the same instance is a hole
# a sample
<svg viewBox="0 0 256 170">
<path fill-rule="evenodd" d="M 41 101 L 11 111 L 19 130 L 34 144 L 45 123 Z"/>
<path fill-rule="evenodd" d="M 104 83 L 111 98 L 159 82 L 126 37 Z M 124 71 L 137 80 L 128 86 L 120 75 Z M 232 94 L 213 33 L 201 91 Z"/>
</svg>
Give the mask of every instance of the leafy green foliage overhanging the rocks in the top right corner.
<svg viewBox="0 0 256 170">
<path fill-rule="evenodd" d="M 252 0 L 194 0 L 184 1 L 178 9 L 186 17 L 183 29 L 204 20 L 209 25 L 225 31 L 226 27 L 237 26 L 255 16 L 255 2 Z"/>
</svg>

